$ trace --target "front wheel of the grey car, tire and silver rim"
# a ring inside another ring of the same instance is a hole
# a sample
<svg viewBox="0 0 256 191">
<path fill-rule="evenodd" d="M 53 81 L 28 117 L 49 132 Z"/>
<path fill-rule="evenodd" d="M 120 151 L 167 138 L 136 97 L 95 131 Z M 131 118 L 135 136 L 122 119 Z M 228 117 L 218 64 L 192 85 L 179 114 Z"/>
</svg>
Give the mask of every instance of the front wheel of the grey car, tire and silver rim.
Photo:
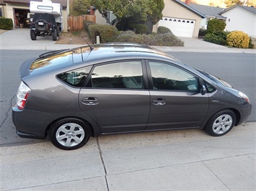
<svg viewBox="0 0 256 191">
<path fill-rule="evenodd" d="M 206 131 L 211 136 L 223 136 L 234 127 L 236 115 L 231 110 L 219 111 L 206 124 Z"/>
</svg>

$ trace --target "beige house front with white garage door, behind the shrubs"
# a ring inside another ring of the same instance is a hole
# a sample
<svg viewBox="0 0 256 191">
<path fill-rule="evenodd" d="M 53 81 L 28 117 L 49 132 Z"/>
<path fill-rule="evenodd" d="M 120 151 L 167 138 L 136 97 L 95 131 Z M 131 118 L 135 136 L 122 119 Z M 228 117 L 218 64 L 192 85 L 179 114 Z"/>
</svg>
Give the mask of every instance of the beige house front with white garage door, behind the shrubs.
<svg viewBox="0 0 256 191">
<path fill-rule="evenodd" d="M 164 0 L 163 18 L 154 25 L 171 29 L 177 37 L 198 37 L 201 20 L 206 16 L 180 0 Z"/>
</svg>

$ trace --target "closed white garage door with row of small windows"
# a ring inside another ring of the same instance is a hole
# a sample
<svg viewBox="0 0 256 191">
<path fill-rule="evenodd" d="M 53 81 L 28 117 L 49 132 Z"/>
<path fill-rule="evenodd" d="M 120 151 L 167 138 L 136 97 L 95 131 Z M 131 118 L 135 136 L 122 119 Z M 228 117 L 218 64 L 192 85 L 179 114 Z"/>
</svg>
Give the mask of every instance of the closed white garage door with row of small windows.
<svg viewBox="0 0 256 191">
<path fill-rule="evenodd" d="M 159 21 L 159 27 L 167 27 L 177 37 L 193 37 L 195 20 L 163 17 Z"/>
</svg>

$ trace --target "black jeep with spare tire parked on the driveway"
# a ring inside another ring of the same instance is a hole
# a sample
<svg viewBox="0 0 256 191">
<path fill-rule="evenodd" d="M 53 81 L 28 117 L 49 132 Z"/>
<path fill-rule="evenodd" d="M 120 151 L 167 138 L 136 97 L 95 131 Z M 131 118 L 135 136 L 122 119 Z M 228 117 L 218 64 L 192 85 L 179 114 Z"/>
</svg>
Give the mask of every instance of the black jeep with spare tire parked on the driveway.
<svg viewBox="0 0 256 191">
<path fill-rule="evenodd" d="M 35 13 L 30 25 L 30 38 L 36 40 L 37 36 L 51 35 L 53 41 L 59 36 L 59 29 L 53 14 Z"/>
</svg>

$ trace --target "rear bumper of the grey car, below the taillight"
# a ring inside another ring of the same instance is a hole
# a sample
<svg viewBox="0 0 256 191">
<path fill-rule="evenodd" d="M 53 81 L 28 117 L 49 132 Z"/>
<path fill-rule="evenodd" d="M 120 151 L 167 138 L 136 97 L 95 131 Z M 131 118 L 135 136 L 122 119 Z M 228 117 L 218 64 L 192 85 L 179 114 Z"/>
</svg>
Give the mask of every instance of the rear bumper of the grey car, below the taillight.
<svg viewBox="0 0 256 191">
<path fill-rule="evenodd" d="M 12 108 L 12 122 L 20 137 L 45 139 L 47 128 L 54 120 L 49 113 Z"/>
</svg>

